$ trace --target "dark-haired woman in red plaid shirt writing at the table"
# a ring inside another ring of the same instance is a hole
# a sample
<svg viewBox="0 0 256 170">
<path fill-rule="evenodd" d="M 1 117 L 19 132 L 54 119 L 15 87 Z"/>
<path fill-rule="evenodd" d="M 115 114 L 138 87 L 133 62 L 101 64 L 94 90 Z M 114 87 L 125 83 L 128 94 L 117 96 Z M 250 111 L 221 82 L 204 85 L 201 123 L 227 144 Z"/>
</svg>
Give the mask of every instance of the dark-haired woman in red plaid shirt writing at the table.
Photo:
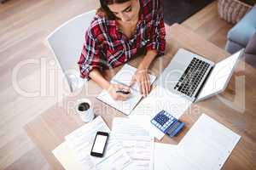
<svg viewBox="0 0 256 170">
<path fill-rule="evenodd" d="M 139 54 L 143 61 L 131 84 L 139 83 L 141 93 L 150 91 L 148 67 L 156 56 L 164 54 L 166 31 L 160 0 L 100 0 L 98 9 L 85 34 L 79 59 L 81 77 L 91 78 L 117 100 L 125 100 L 128 87 L 113 84 L 102 77 L 104 68 L 124 64 Z"/>
</svg>

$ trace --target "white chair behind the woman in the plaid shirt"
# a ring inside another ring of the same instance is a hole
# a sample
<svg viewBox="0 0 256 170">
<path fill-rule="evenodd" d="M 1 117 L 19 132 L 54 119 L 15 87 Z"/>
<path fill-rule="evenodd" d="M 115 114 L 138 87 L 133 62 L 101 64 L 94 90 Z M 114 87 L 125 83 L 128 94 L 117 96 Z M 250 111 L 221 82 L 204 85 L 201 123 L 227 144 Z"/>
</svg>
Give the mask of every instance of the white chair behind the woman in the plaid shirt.
<svg viewBox="0 0 256 170">
<path fill-rule="evenodd" d="M 61 65 L 71 92 L 82 88 L 87 81 L 80 77 L 77 63 L 84 44 L 84 33 L 95 14 L 96 10 L 80 14 L 56 28 L 47 37 L 49 48 Z"/>
</svg>

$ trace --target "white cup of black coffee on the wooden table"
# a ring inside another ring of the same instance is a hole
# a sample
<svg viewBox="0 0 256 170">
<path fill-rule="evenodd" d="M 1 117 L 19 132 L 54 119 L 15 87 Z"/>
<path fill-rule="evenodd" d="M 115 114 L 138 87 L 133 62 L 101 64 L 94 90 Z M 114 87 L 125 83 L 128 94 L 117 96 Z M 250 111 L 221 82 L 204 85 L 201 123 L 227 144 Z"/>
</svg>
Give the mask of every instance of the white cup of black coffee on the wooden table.
<svg viewBox="0 0 256 170">
<path fill-rule="evenodd" d="M 90 99 L 78 99 L 75 109 L 83 122 L 91 122 L 94 119 L 94 111 Z"/>
</svg>

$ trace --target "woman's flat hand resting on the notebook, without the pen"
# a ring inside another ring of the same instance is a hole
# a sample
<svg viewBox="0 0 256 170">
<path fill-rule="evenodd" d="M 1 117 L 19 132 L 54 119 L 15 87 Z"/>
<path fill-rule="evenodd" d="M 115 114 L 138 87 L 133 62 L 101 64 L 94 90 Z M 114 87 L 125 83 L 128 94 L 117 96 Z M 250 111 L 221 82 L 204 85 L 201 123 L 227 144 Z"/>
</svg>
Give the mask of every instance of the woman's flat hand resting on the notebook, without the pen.
<svg viewBox="0 0 256 170">
<path fill-rule="evenodd" d="M 150 79 L 148 76 L 148 69 L 138 68 L 131 79 L 130 87 L 135 82 L 138 83 L 141 94 L 143 94 L 144 97 L 147 96 L 148 93 L 150 92 Z"/>
</svg>

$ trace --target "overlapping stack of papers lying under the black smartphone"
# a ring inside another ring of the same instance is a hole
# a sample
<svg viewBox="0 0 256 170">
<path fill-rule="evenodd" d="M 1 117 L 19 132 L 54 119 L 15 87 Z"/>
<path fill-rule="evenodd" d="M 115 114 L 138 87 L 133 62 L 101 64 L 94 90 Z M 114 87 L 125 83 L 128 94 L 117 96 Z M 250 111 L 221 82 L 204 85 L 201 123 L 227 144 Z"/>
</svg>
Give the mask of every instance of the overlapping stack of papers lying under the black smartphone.
<svg viewBox="0 0 256 170">
<path fill-rule="evenodd" d="M 66 169 L 124 169 L 131 163 L 122 145 L 109 136 L 108 147 L 102 158 L 90 156 L 90 150 L 97 131 L 110 133 L 107 124 L 101 116 L 66 136 L 66 142 L 61 144 L 53 153 Z M 66 156 L 61 155 L 66 152 Z M 67 161 L 68 160 L 68 161 Z M 73 160 L 73 161 L 72 161 Z M 75 166 L 75 167 L 73 167 Z"/>
</svg>

